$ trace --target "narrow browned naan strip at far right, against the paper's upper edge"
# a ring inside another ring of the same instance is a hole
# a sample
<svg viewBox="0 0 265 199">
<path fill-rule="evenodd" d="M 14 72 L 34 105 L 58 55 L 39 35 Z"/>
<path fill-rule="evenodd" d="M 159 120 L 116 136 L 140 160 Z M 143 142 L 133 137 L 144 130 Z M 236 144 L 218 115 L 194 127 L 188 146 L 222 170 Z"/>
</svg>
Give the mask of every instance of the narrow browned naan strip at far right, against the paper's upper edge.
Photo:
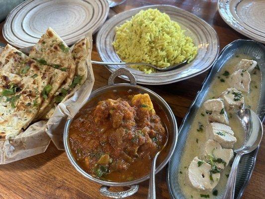
<svg viewBox="0 0 265 199">
<path fill-rule="evenodd" d="M 88 61 L 89 55 L 89 41 L 87 38 L 82 39 L 77 42 L 72 50 L 72 56 L 76 63 L 76 73 L 75 76 L 82 77 L 80 84 L 83 84 L 88 77 Z"/>
</svg>

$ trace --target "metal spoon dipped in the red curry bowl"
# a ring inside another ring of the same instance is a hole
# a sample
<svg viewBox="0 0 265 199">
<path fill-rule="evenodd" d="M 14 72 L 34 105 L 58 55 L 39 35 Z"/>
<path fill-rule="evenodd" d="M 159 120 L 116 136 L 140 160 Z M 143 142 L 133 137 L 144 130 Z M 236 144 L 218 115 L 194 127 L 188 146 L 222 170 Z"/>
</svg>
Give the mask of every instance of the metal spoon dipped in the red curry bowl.
<svg viewBox="0 0 265 199">
<path fill-rule="evenodd" d="M 147 199 L 156 199 L 156 178 L 155 178 L 155 172 L 156 172 L 156 161 L 157 161 L 157 157 L 158 155 L 161 153 L 161 151 L 167 146 L 168 141 L 169 141 L 169 131 L 167 130 L 167 140 L 164 144 L 164 146 L 162 147 L 162 149 L 157 152 L 157 154 L 155 155 L 153 161 L 152 161 L 152 167 L 151 167 L 151 172 L 150 172 L 150 179 L 149 179 L 149 189 L 148 189 L 148 197 Z"/>
</svg>

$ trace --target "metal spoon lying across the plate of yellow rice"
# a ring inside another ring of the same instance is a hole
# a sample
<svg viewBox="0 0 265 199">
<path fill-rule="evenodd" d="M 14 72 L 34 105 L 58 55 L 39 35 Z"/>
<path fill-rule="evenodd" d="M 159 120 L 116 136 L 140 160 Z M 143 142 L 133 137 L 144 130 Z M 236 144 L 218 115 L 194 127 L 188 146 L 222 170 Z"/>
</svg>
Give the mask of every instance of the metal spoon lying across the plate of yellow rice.
<svg viewBox="0 0 265 199">
<path fill-rule="evenodd" d="M 97 61 L 92 61 L 91 60 L 91 63 L 92 64 L 99 64 L 99 65 L 146 65 L 146 66 L 150 66 L 158 71 L 171 71 L 171 70 L 174 70 L 175 68 L 177 67 L 180 67 L 182 66 L 183 64 L 185 64 L 187 62 L 187 60 L 179 63 L 179 64 L 176 64 L 176 65 L 173 65 L 173 66 L 169 66 L 169 67 L 164 67 L 164 68 L 160 68 L 160 67 L 157 67 L 157 66 L 154 66 L 152 64 L 148 64 L 148 63 L 142 63 L 142 62 L 97 62 Z"/>
</svg>

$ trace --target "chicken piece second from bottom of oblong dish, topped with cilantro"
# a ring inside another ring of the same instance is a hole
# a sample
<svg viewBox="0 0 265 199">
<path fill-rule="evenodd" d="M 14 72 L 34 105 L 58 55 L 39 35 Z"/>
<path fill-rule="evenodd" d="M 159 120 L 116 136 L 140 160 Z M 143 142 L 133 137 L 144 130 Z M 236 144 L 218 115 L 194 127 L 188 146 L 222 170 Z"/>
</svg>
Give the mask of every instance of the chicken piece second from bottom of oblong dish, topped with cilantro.
<svg viewBox="0 0 265 199">
<path fill-rule="evenodd" d="M 203 154 L 206 159 L 212 159 L 219 170 L 224 170 L 234 157 L 232 149 L 223 149 L 222 146 L 214 140 L 208 140 L 205 143 Z"/>
</svg>

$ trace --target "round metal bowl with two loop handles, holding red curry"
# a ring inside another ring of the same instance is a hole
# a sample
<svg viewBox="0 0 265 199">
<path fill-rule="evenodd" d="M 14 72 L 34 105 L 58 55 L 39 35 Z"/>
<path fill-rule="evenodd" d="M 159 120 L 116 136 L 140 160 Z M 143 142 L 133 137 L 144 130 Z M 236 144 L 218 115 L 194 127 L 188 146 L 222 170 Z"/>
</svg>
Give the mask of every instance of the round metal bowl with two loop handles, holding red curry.
<svg viewBox="0 0 265 199">
<path fill-rule="evenodd" d="M 127 76 L 130 79 L 130 84 L 114 84 L 114 79 L 120 75 Z M 129 91 L 129 90 L 132 92 L 136 92 L 136 93 L 149 94 L 151 100 L 156 101 L 156 103 L 165 111 L 167 115 L 167 119 L 169 121 L 167 125 L 167 130 L 169 132 L 168 133 L 169 142 L 168 142 L 168 146 L 165 148 L 165 151 L 164 151 L 165 153 L 167 153 L 167 155 L 164 160 L 161 160 L 161 162 L 157 164 L 158 165 L 158 167 L 156 168 L 156 174 L 157 174 L 169 162 L 175 150 L 176 144 L 177 144 L 177 121 L 168 103 L 165 100 L 163 100 L 163 98 L 161 98 L 159 95 L 154 93 L 153 91 L 136 85 L 136 80 L 134 76 L 129 72 L 129 70 L 125 68 L 119 68 L 115 72 L 113 72 L 111 76 L 109 77 L 108 86 L 102 87 L 92 92 L 88 101 L 90 101 L 91 99 L 97 98 L 99 96 L 102 96 L 106 92 Z M 76 170 L 79 173 L 81 173 L 84 177 L 88 178 L 89 180 L 102 185 L 101 188 L 99 189 L 99 192 L 101 195 L 110 197 L 110 198 L 116 198 L 116 199 L 125 198 L 125 197 L 135 194 L 138 191 L 138 187 L 139 187 L 138 184 L 149 179 L 150 176 L 148 174 L 137 180 L 120 183 L 120 182 L 103 181 L 103 180 L 94 178 L 91 175 L 89 175 L 86 171 L 84 171 L 78 165 L 74 156 L 72 155 L 72 152 L 70 149 L 70 143 L 69 143 L 69 128 L 70 128 L 71 122 L 72 122 L 72 119 L 67 120 L 66 125 L 65 125 L 65 130 L 64 130 L 64 146 L 65 146 L 67 157 L 69 158 L 71 164 L 76 168 Z M 129 187 L 129 190 L 124 191 L 124 192 L 110 192 L 108 191 L 108 188 L 111 186 Z"/>
</svg>

